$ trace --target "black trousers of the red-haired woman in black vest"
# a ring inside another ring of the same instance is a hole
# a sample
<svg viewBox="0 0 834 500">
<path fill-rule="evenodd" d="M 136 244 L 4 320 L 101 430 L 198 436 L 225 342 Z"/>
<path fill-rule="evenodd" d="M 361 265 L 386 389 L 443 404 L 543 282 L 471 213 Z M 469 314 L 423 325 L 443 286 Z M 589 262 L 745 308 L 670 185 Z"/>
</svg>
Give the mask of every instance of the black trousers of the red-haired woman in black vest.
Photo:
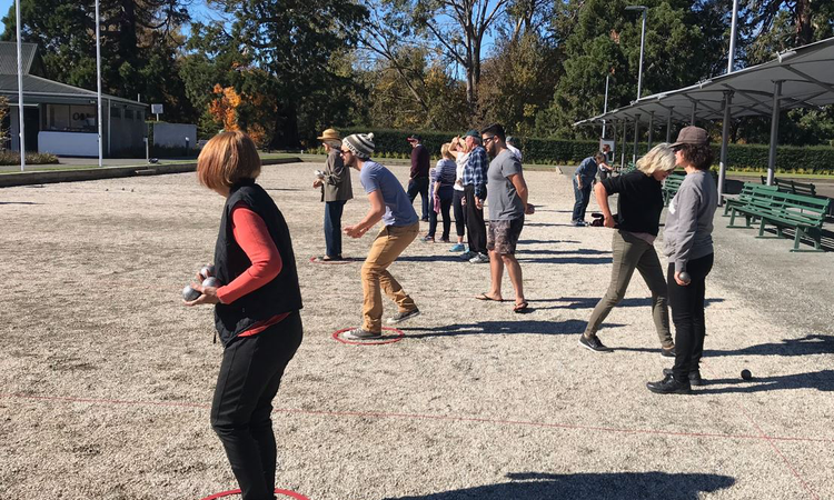
<svg viewBox="0 0 834 500">
<path fill-rule="evenodd" d="M 244 500 L 274 500 L 272 398 L 301 337 L 296 311 L 258 334 L 232 340 L 224 351 L 211 427 L 226 449 Z"/>
</svg>

